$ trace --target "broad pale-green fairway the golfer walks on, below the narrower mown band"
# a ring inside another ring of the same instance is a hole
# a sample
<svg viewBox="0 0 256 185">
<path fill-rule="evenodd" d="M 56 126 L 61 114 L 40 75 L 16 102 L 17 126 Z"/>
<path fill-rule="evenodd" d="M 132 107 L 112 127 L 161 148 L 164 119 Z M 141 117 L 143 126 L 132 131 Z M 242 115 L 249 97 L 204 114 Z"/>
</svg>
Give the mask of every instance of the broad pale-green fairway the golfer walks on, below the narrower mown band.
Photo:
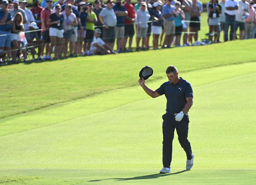
<svg viewBox="0 0 256 185">
<path fill-rule="evenodd" d="M 252 73 L 194 88 L 189 112 L 189 140 L 196 155 L 192 171 L 183 171 L 186 157 L 175 135 L 172 171 L 177 174 L 157 174 L 166 102 L 160 97 L 3 136 L 1 174 L 83 184 L 252 184 L 256 130 L 254 110 L 248 107 L 256 100 L 250 96 L 255 77 Z"/>
</svg>

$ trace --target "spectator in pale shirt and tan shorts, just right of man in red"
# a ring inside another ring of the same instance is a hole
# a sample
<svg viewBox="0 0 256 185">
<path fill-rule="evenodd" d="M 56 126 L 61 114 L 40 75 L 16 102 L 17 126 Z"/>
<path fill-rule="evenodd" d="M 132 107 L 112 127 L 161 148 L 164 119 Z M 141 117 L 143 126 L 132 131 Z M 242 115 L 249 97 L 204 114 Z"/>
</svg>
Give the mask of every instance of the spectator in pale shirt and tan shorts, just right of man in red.
<svg viewBox="0 0 256 185">
<path fill-rule="evenodd" d="M 150 14 L 147 10 L 147 3 L 141 3 L 140 9 L 136 12 L 137 14 L 137 36 L 136 36 L 136 50 L 140 49 L 140 38 L 142 38 L 142 49 L 145 50 L 145 39 L 148 31 L 148 20 Z"/>
</svg>

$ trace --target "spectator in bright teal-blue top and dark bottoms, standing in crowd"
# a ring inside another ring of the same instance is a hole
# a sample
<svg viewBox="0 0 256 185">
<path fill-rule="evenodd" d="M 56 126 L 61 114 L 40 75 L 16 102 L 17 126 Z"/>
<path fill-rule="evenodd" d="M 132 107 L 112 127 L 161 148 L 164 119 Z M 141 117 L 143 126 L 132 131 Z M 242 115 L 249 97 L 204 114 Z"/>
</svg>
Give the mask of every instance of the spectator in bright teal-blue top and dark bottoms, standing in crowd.
<svg viewBox="0 0 256 185">
<path fill-rule="evenodd" d="M 183 10 L 180 8 L 181 3 L 180 1 L 176 1 L 175 3 L 175 47 L 180 47 L 180 36 L 183 29 L 183 23 L 182 20 L 185 19 L 185 14 Z"/>
</svg>

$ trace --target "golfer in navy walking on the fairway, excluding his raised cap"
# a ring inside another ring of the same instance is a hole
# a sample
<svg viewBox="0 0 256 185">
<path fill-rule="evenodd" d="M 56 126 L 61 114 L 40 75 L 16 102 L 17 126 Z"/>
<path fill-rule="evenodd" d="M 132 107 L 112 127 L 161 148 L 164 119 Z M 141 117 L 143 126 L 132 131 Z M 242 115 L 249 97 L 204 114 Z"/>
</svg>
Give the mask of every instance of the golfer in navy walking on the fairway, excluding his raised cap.
<svg viewBox="0 0 256 185">
<path fill-rule="evenodd" d="M 166 113 L 162 116 L 163 169 L 160 170 L 160 173 L 171 172 L 172 140 L 174 138 L 175 128 L 180 145 L 186 152 L 186 170 L 192 168 L 194 160 L 194 154 L 192 153 L 190 142 L 187 139 L 189 131 L 188 111 L 193 104 L 192 87 L 189 82 L 178 76 L 178 71 L 175 66 L 167 67 L 166 75 L 169 81 L 163 83 L 155 91 L 145 85 L 143 78 L 139 79 L 140 86 L 152 98 L 157 98 L 164 94 L 167 99 Z"/>
</svg>

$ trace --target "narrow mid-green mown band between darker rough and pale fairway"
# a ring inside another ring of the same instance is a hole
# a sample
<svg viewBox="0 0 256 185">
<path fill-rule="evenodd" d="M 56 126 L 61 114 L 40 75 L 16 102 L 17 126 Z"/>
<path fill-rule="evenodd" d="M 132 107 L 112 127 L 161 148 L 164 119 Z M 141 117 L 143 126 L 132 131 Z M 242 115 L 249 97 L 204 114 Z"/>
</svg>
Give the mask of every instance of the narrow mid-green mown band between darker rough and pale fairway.
<svg viewBox="0 0 256 185">
<path fill-rule="evenodd" d="M 232 78 L 234 76 L 252 73 L 255 72 L 255 68 L 256 63 L 236 64 L 217 67 L 214 70 L 202 69 L 194 72 L 180 72 L 180 76 L 187 79 L 193 87 L 196 87 L 225 78 Z M 146 82 L 153 89 L 157 89 L 160 84 L 167 80 L 167 78 L 154 80 L 156 78 L 155 75 L 160 74 L 155 72 L 151 77 L 152 80 L 150 81 L 149 79 Z M 162 78 L 165 78 L 164 72 L 161 72 L 161 75 Z M 76 101 L 57 104 L 30 113 L 1 119 L 0 136 L 30 130 L 37 127 L 44 127 L 50 124 L 57 124 L 76 117 L 101 112 L 133 101 L 149 98 L 148 95 L 143 93 L 143 90 L 141 90 L 137 84 L 137 80 L 134 80 L 133 83 L 136 87 L 133 86 L 112 90 Z"/>
</svg>

